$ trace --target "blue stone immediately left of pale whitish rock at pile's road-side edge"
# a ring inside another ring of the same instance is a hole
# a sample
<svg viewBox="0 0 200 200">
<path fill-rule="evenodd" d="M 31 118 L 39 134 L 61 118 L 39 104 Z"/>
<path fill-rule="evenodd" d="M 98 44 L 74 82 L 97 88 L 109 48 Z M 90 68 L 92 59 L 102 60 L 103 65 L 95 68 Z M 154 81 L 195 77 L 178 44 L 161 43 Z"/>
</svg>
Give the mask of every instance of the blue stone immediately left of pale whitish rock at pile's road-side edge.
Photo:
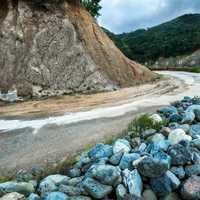
<svg viewBox="0 0 200 200">
<path fill-rule="evenodd" d="M 112 155 L 113 147 L 105 144 L 97 144 L 88 152 L 88 156 L 92 159 L 109 158 Z"/>
</svg>

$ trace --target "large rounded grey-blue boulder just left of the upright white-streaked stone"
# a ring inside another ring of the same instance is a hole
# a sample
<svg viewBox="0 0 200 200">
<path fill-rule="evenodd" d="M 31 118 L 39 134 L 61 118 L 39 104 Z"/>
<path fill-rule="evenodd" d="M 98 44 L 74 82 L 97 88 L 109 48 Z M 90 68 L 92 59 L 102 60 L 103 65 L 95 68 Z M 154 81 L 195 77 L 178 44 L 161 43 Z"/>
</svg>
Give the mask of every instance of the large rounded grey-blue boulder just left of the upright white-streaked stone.
<svg viewBox="0 0 200 200">
<path fill-rule="evenodd" d="M 92 177 L 102 184 L 115 186 L 121 180 L 121 170 L 112 165 L 97 165 L 92 169 Z"/>
</svg>

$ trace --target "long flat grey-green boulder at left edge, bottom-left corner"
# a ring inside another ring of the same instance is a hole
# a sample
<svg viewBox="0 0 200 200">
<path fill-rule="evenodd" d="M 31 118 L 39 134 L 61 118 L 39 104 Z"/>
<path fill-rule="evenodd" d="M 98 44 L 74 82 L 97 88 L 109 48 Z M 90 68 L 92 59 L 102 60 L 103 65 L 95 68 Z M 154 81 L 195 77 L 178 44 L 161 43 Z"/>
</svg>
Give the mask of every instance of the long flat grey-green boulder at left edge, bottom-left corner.
<svg viewBox="0 0 200 200">
<path fill-rule="evenodd" d="M 13 193 L 13 192 L 17 192 L 25 196 L 28 196 L 34 191 L 35 191 L 34 186 L 31 183 L 6 182 L 0 184 L 0 197 L 7 193 Z"/>
</svg>

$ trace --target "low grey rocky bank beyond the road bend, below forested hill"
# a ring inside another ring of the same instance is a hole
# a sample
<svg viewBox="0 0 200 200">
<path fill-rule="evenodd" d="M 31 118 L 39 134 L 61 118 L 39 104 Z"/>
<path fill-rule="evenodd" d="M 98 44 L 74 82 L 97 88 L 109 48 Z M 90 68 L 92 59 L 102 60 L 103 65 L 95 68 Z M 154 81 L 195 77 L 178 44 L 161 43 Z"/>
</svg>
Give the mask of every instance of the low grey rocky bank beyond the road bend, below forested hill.
<svg viewBox="0 0 200 200">
<path fill-rule="evenodd" d="M 184 67 L 200 67 L 200 50 L 188 56 L 160 58 L 151 66 L 153 69 L 175 69 Z"/>
</svg>

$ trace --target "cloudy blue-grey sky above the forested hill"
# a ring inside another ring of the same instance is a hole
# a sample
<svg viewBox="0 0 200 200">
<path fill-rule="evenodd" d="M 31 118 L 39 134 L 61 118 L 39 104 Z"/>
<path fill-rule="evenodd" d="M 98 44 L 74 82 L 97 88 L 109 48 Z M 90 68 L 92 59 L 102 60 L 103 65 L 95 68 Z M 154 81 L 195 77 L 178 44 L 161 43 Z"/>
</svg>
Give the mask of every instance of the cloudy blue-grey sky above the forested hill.
<svg viewBox="0 0 200 200">
<path fill-rule="evenodd" d="M 147 28 L 188 13 L 200 13 L 200 0 L 102 0 L 99 24 L 115 33 Z"/>
</svg>

